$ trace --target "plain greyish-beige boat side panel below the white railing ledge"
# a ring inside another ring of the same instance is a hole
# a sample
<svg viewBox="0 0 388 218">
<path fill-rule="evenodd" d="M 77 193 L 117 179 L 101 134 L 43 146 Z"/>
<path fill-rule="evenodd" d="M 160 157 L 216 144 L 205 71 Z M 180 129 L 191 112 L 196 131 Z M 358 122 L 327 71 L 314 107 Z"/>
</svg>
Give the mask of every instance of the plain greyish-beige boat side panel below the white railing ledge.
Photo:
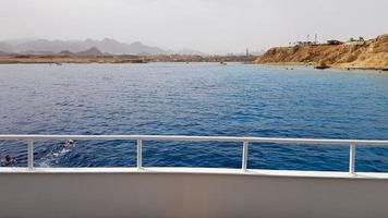
<svg viewBox="0 0 388 218">
<path fill-rule="evenodd" d="M 388 217 L 388 180 L 0 173 L 0 217 Z"/>
</svg>

